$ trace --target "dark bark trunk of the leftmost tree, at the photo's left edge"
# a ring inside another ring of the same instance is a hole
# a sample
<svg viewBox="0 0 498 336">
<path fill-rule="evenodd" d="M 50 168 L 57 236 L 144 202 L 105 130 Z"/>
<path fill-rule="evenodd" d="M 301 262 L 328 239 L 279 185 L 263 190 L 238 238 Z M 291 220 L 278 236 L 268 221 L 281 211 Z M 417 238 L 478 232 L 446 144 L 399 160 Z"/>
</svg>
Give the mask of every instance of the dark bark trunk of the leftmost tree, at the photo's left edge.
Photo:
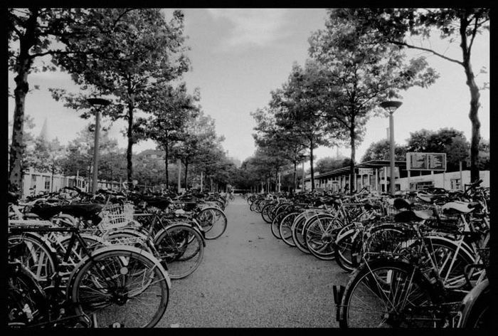
<svg viewBox="0 0 498 336">
<path fill-rule="evenodd" d="M 16 66 L 17 75 L 14 78 L 16 88 L 14 89 L 14 98 L 16 107 L 14 107 L 14 125 L 12 126 L 12 142 L 9 153 L 9 182 L 12 185 L 22 189 L 23 181 L 23 128 L 24 128 L 24 110 L 26 107 L 26 94 L 29 90 L 28 73 L 33 58 L 29 55 L 29 49 L 35 44 L 36 20 L 38 19 L 38 9 L 32 10 L 32 15 L 26 21 L 26 32 L 19 38 L 19 56 Z"/>
</svg>

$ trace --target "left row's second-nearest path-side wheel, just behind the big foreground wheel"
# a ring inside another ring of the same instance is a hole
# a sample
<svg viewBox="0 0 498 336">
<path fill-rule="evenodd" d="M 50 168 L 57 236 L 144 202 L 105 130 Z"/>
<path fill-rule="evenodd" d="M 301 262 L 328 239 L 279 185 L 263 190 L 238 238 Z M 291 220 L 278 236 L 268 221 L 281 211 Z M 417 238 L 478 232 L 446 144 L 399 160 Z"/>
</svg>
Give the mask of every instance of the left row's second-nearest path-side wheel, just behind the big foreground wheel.
<svg viewBox="0 0 498 336">
<path fill-rule="evenodd" d="M 165 261 L 171 279 L 194 273 L 204 257 L 205 242 L 200 233 L 186 224 L 167 227 L 154 238 L 158 258 Z"/>
</svg>

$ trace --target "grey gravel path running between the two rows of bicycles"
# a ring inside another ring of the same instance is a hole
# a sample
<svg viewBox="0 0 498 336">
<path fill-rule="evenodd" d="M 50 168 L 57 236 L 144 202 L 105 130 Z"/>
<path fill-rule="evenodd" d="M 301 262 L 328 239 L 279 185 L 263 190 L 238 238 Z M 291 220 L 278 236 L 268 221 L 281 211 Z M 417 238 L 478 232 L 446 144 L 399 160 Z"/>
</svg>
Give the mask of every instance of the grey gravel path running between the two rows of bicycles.
<svg viewBox="0 0 498 336">
<path fill-rule="evenodd" d="M 237 196 L 228 227 L 206 241 L 203 263 L 174 280 L 157 327 L 337 327 L 332 285 L 347 274 L 277 240 Z"/>
</svg>

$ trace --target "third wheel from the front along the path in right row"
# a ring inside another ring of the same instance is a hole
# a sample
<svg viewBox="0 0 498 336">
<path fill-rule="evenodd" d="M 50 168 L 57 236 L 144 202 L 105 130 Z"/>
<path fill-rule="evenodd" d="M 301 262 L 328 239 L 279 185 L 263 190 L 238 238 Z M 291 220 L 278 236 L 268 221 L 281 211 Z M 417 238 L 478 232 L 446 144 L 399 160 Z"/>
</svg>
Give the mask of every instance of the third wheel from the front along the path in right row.
<svg viewBox="0 0 498 336">
<path fill-rule="evenodd" d="M 341 222 L 333 215 L 310 220 L 303 230 L 309 252 L 320 260 L 334 260 L 334 242 L 341 227 Z"/>
</svg>

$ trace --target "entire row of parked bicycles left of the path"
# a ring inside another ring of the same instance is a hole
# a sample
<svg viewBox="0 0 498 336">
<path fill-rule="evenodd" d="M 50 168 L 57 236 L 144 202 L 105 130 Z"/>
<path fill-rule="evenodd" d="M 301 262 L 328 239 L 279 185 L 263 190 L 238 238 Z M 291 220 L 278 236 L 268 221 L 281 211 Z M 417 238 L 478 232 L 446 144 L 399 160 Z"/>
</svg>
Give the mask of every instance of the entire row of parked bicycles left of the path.
<svg viewBox="0 0 498 336">
<path fill-rule="evenodd" d="M 9 192 L 10 327 L 154 327 L 227 228 L 218 194 Z"/>
</svg>

